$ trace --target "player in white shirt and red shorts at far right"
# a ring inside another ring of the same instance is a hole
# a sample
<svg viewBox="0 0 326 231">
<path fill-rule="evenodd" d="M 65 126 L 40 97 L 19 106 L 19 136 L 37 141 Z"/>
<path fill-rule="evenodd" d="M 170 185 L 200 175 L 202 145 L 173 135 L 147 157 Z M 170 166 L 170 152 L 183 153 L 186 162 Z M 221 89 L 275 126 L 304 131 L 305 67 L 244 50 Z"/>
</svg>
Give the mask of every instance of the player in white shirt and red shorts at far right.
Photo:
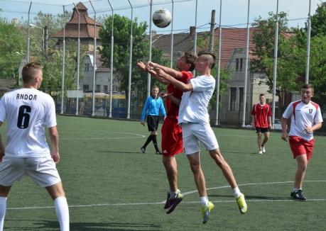
<svg viewBox="0 0 326 231">
<path fill-rule="evenodd" d="M 322 128 L 322 113 L 320 106 L 311 101 L 313 86 L 303 85 L 302 99 L 292 102 L 282 116 L 282 140 L 289 141 L 293 158 L 297 161 L 294 187 L 290 196 L 296 201 L 305 201 L 303 196 L 303 180 L 308 162 L 313 155 L 315 139 L 313 132 Z M 287 133 L 288 118 L 291 118 L 290 133 Z M 289 137 L 289 140 L 288 140 Z"/>
</svg>

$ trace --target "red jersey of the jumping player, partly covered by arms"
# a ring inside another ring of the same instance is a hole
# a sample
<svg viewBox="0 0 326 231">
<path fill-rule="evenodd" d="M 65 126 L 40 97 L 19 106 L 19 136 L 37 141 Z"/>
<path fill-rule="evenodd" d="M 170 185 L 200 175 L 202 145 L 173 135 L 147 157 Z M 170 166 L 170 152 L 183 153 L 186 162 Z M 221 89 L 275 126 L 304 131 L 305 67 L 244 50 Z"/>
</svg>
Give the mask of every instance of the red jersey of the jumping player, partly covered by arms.
<svg viewBox="0 0 326 231">
<path fill-rule="evenodd" d="M 184 72 L 184 71 L 182 71 L 181 73 L 183 74 L 183 77 L 181 77 L 181 79 L 179 80 L 185 84 L 188 84 L 189 80 L 192 78 L 192 73 Z M 180 91 L 172 84 L 168 84 L 168 94 L 174 96 L 175 98 L 181 99 L 181 97 L 183 96 L 183 91 Z M 167 116 L 178 116 L 179 114 L 178 105 L 175 105 L 169 98 L 166 99 L 165 104 L 166 104 L 166 109 L 168 111 Z"/>
</svg>

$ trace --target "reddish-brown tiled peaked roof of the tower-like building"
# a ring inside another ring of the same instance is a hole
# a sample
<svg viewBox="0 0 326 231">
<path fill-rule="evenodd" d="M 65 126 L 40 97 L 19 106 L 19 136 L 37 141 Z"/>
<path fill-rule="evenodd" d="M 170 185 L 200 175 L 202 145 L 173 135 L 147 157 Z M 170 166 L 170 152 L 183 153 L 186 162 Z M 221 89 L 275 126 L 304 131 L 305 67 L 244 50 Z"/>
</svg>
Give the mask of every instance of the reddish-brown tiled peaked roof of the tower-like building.
<svg viewBox="0 0 326 231">
<path fill-rule="evenodd" d="M 94 38 L 94 25 L 96 25 L 96 37 L 99 38 L 101 23 L 89 18 L 87 8 L 81 2 L 74 7 L 70 21 L 65 24 L 65 38 L 78 38 L 78 12 L 80 12 L 80 38 Z M 60 30 L 52 38 L 63 38 L 63 30 Z"/>
</svg>

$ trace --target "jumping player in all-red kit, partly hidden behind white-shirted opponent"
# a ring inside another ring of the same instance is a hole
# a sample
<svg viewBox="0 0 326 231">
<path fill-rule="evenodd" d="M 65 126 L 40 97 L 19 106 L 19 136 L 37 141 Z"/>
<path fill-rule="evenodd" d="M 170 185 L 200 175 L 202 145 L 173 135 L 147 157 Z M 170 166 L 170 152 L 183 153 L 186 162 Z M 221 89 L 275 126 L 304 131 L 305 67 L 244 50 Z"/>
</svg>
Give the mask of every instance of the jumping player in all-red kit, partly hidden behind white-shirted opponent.
<svg viewBox="0 0 326 231">
<path fill-rule="evenodd" d="M 185 55 L 178 58 L 176 63 L 176 67 L 179 71 L 153 62 L 148 62 L 147 65 L 143 64 L 143 62 L 138 62 L 137 64 L 140 69 L 151 73 L 158 81 L 168 84 L 168 92 L 161 94 L 161 96 L 166 99 L 165 105 L 168 111 L 161 130 L 163 164 L 170 186 L 168 189 L 168 197 L 164 205 L 166 213 L 171 213 L 178 203 L 183 200 L 183 195 L 178 190 L 178 165 L 175 159 L 176 154 L 183 152 L 182 129 L 181 126 L 178 125 L 179 105 L 183 92 L 176 89 L 172 84 L 169 84 L 165 79 L 157 77 L 154 68 L 158 67 L 170 76 L 175 77 L 175 79 L 188 83 L 189 79 L 192 78 L 191 72 L 195 68 L 195 60 L 195 55 L 185 52 Z"/>
</svg>

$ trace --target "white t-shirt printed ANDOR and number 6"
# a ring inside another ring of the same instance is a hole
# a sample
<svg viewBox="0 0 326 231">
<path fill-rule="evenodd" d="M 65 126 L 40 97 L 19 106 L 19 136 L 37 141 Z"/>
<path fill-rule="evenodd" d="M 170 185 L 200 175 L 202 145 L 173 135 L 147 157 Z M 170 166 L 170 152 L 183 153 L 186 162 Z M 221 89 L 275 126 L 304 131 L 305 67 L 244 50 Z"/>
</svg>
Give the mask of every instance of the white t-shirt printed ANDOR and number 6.
<svg viewBox="0 0 326 231">
<path fill-rule="evenodd" d="M 37 89 L 10 91 L 0 101 L 0 121 L 8 120 L 5 154 L 40 157 L 50 154 L 47 128 L 57 125 L 53 98 Z"/>
</svg>

